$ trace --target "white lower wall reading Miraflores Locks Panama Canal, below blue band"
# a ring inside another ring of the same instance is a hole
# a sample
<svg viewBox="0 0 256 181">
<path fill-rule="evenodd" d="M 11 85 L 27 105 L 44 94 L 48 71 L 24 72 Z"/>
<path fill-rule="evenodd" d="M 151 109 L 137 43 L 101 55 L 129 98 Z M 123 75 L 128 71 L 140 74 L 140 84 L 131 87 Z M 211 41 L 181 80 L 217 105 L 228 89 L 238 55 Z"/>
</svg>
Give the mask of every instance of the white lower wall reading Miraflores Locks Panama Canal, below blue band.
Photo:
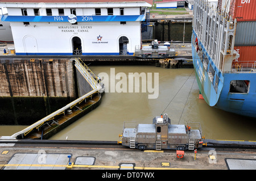
<svg viewBox="0 0 256 181">
<path fill-rule="evenodd" d="M 83 53 L 119 53 L 118 40 L 121 36 L 126 36 L 129 39 L 127 49 L 131 53 L 134 52 L 135 45 L 141 44 L 141 22 L 126 22 L 125 25 L 119 22 L 79 22 L 76 25 L 31 22 L 28 26 L 24 26 L 22 22 L 15 22 L 11 23 L 11 26 L 16 53 L 26 53 L 25 44 L 28 44 L 28 41 L 31 41 L 31 46 L 35 47 L 36 53 L 72 53 L 71 40 L 74 36 L 80 37 Z M 59 28 L 62 26 L 76 28 Z M 82 26 L 89 28 L 81 28 Z M 74 30 L 75 32 L 63 32 L 65 30 Z M 88 30 L 88 32 L 79 32 L 81 30 Z M 101 41 L 97 40 L 99 35 L 102 36 Z"/>
</svg>

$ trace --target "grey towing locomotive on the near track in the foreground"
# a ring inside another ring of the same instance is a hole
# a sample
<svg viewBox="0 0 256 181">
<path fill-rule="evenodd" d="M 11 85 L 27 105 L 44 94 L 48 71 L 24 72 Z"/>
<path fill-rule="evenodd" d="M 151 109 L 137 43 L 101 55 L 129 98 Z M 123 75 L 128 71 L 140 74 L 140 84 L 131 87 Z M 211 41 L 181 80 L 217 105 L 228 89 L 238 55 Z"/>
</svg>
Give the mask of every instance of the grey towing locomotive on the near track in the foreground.
<svg viewBox="0 0 256 181">
<path fill-rule="evenodd" d="M 197 129 L 193 129 L 197 128 Z M 186 125 L 171 124 L 167 113 L 156 116 L 152 124 L 138 124 L 125 121 L 123 132 L 119 135 L 122 145 L 130 148 L 194 150 L 203 147 L 200 123 Z"/>
</svg>

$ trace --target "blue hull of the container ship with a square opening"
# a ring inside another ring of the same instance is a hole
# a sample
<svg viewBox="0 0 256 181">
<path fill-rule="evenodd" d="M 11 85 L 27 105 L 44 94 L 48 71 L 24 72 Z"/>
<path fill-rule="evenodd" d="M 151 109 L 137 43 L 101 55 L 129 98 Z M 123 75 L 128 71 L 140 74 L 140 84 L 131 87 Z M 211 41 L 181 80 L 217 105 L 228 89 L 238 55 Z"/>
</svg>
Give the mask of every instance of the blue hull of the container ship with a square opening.
<svg viewBox="0 0 256 181">
<path fill-rule="evenodd" d="M 193 34 L 196 33 L 193 31 Z M 192 35 L 193 36 L 193 35 Z M 207 69 L 200 60 L 199 54 L 193 46 L 192 57 L 195 69 L 197 84 L 204 100 L 209 106 L 219 108 L 224 111 L 236 113 L 243 116 L 256 117 L 256 74 L 255 73 L 221 73 L 214 65 L 214 62 L 208 56 L 203 44 L 199 40 L 200 47 L 208 57 L 209 64 L 215 71 L 213 81 L 210 80 Z M 215 80 L 218 79 L 215 85 Z M 246 93 L 237 93 L 230 91 L 230 82 L 234 80 L 249 81 L 249 89 Z"/>
</svg>

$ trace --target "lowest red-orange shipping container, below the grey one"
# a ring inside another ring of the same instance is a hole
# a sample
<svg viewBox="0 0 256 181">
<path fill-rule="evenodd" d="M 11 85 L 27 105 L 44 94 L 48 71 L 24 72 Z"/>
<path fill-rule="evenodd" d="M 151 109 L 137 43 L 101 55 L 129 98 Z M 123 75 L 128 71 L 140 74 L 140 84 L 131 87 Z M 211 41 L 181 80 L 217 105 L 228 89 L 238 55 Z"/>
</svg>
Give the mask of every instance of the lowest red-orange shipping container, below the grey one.
<svg viewBox="0 0 256 181">
<path fill-rule="evenodd" d="M 234 50 L 237 50 L 240 57 L 233 61 L 233 65 L 256 68 L 256 46 L 235 46 Z"/>
</svg>

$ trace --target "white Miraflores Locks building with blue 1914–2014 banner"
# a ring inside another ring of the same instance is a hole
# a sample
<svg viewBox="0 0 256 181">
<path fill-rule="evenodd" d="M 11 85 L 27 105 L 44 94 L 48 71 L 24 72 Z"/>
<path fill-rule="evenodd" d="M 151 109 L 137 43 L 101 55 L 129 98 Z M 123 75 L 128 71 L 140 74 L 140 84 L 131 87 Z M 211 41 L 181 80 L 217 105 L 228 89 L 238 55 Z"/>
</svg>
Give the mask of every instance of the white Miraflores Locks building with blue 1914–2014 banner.
<svg viewBox="0 0 256 181">
<path fill-rule="evenodd" d="M 17 55 L 133 54 L 152 0 L 2 0 Z"/>
</svg>

